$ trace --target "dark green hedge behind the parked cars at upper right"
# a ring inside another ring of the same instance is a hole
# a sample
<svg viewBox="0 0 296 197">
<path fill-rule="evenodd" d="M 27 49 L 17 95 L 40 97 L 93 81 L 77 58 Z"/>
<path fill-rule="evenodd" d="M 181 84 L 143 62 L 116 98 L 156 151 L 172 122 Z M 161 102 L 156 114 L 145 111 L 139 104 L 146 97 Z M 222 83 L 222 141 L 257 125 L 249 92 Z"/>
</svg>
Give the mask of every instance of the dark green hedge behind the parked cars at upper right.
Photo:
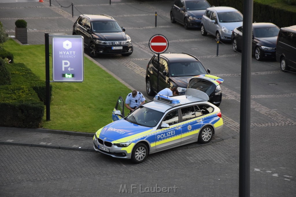
<svg viewBox="0 0 296 197">
<path fill-rule="evenodd" d="M 212 6 L 230 6 L 243 13 L 244 0 L 208 0 Z M 269 5 L 254 1 L 253 4 L 253 22 L 271 22 L 279 27 L 289 27 L 296 25 L 296 10 L 290 12 L 287 10 L 274 8 Z"/>
</svg>

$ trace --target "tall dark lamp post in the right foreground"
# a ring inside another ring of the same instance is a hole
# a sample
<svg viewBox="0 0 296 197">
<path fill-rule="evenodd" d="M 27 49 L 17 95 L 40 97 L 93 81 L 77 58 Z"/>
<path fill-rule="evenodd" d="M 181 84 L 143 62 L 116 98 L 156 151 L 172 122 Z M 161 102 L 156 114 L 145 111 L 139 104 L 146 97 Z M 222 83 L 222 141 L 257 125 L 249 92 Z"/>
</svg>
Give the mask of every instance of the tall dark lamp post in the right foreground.
<svg viewBox="0 0 296 197">
<path fill-rule="evenodd" d="M 253 0 L 243 3 L 242 77 L 239 120 L 239 197 L 250 196 L 250 117 Z"/>
</svg>

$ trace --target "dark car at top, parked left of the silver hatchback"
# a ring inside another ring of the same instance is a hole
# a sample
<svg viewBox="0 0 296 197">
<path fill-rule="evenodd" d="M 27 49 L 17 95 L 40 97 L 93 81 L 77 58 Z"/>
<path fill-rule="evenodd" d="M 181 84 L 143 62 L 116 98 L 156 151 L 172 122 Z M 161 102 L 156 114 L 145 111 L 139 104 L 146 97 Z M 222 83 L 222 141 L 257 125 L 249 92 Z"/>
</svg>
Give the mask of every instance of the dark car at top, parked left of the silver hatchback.
<svg viewBox="0 0 296 197">
<path fill-rule="evenodd" d="M 202 15 L 210 7 L 206 0 L 175 0 L 170 9 L 170 21 L 179 22 L 185 29 L 200 27 Z"/>
</svg>

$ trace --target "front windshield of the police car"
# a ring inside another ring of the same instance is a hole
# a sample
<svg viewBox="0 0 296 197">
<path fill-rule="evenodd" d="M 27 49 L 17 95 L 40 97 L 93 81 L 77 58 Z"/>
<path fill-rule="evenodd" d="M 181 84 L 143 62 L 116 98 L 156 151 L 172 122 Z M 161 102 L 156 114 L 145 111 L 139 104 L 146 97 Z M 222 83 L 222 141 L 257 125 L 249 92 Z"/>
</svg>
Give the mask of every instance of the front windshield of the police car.
<svg viewBox="0 0 296 197">
<path fill-rule="evenodd" d="M 155 127 L 163 117 L 163 114 L 163 112 L 140 106 L 125 119 L 137 125 Z"/>
</svg>

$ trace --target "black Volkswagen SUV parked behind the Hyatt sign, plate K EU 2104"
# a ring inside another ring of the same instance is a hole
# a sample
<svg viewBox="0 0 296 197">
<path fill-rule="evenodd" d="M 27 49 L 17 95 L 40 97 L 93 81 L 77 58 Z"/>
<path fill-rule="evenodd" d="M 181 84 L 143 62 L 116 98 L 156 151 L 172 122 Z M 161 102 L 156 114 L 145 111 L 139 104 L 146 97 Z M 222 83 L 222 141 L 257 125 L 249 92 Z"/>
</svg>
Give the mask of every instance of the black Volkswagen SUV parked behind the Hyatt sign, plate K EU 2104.
<svg viewBox="0 0 296 197">
<path fill-rule="evenodd" d="M 73 25 L 73 35 L 82 35 L 91 57 L 99 54 L 133 53 L 131 38 L 118 22 L 106 14 L 81 14 Z"/>
</svg>

